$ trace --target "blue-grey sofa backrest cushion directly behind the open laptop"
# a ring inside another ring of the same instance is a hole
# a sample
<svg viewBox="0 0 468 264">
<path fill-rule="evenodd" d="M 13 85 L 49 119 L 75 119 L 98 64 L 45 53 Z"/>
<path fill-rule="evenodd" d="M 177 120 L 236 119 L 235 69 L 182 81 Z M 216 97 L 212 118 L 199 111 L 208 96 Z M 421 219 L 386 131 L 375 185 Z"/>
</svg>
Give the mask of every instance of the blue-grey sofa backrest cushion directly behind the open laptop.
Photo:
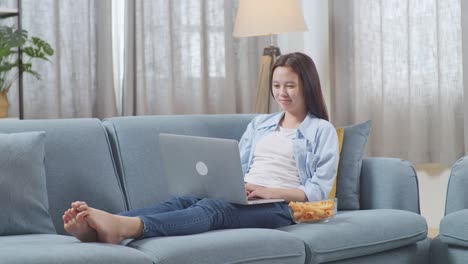
<svg viewBox="0 0 468 264">
<path fill-rule="evenodd" d="M 169 198 L 159 133 L 239 140 L 255 115 L 161 115 L 104 120 L 130 209 Z"/>
</svg>

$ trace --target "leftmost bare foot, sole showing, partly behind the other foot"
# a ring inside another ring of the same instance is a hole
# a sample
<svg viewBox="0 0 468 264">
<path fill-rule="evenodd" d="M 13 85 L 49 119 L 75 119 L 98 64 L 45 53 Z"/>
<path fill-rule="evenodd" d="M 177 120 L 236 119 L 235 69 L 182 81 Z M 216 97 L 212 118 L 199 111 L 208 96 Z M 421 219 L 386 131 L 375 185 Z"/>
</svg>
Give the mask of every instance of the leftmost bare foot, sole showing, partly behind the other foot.
<svg viewBox="0 0 468 264">
<path fill-rule="evenodd" d="M 85 217 L 85 214 L 80 214 L 79 211 L 70 208 L 63 213 L 63 227 L 81 242 L 96 242 L 97 232 L 88 225 Z"/>
</svg>

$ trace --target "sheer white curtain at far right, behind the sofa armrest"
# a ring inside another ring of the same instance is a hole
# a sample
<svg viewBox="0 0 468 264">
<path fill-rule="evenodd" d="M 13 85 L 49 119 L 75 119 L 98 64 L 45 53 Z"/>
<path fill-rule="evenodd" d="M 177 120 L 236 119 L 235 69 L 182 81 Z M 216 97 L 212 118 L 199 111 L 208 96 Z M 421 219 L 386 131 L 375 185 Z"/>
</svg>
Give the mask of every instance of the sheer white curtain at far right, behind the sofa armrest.
<svg viewBox="0 0 468 264">
<path fill-rule="evenodd" d="M 460 0 L 334 0 L 332 118 L 372 119 L 368 155 L 464 155 Z"/>
</svg>

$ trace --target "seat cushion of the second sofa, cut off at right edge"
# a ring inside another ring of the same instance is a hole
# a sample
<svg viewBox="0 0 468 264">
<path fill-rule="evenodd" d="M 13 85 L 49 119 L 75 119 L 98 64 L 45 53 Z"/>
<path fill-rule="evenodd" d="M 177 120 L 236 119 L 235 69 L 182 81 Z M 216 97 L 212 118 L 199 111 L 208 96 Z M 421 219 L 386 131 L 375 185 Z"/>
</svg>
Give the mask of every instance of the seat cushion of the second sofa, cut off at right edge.
<svg viewBox="0 0 468 264">
<path fill-rule="evenodd" d="M 440 240 L 446 244 L 468 247 L 468 209 L 450 213 L 440 222 Z"/>
</svg>

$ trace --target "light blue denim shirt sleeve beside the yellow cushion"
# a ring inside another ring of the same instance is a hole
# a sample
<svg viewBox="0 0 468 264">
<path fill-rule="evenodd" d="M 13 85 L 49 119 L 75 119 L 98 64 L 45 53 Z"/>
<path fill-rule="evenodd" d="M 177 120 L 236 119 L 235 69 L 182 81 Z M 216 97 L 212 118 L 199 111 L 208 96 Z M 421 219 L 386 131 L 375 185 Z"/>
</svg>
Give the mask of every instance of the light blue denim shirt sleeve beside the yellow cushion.
<svg viewBox="0 0 468 264">
<path fill-rule="evenodd" d="M 302 185 L 299 188 L 309 201 L 328 199 L 339 160 L 338 136 L 333 125 L 321 122 L 315 142 L 307 142 L 305 153 L 301 156 L 305 162 L 298 168 L 302 174 Z"/>
</svg>

